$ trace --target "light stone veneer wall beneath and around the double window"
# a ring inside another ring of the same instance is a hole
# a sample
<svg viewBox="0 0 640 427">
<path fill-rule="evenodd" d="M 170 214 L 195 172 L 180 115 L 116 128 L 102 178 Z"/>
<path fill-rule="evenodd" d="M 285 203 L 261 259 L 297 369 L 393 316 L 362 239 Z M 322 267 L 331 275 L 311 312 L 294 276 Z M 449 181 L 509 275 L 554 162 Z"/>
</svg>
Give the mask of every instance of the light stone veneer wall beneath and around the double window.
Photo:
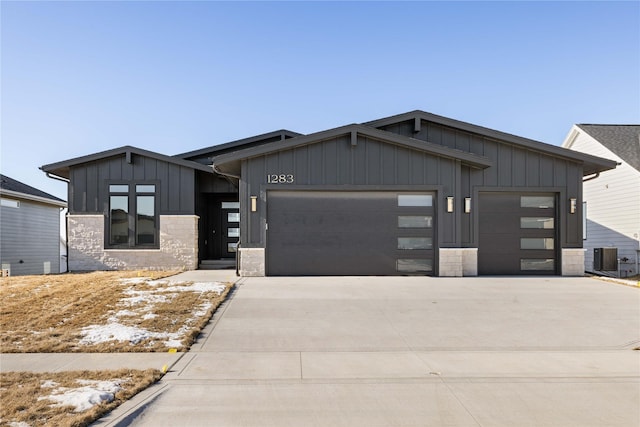
<svg viewBox="0 0 640 427">
<path fill-rule="evenodd" d="M 69 270 L 195 270 L 198 217 L 160 215 L 160 249 L 105 249 L 104 215 L 69 215 Z"/>
</svg>

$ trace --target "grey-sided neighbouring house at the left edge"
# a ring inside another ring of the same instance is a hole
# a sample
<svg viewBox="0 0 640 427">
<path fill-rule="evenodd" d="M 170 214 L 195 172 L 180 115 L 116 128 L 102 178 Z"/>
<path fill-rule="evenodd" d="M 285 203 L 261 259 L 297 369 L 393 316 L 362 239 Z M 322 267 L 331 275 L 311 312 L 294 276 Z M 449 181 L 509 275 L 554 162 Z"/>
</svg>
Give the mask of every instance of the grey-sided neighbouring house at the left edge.
<svg viewBox="0 0 640 427">
<path fill-rule="evenodd" d="M 0 263 L 3 275 L 61 271 L 60 212 L 67 203 L 0 175 Z M 62 265 L 62 270 L 66 266 Z"/>
</svg>

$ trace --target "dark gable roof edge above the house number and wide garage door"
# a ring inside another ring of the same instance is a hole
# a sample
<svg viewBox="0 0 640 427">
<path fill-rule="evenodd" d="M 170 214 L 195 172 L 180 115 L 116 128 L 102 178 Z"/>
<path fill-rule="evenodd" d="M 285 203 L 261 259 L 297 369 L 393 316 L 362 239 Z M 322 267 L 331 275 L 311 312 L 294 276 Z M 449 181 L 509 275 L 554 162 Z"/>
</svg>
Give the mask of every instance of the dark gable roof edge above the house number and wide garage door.
<svg viewBox="0 0 640 427">
<path fill-rule="evenodd" d="M 384 141 L 390 144 L 399 145 L 413 150 L 418 150 L 433 154 L 439 157 L 446 157 L 450 159 L 460 160 L 462 163 L 484 169 L 491 166 L 493 163 L 491 160 L 484 156 L 469 153 L 462 150 L 456 150 L 453 148 L 445 147 L 439 144 L 433 144 L 422 140 L 408 138 L 406 136 L 398 135 L 392 132 L 383 131 L 380 129 L 372 128 L 365 125 L 351 124 L 346 126 L 329 129 L 309 135 L 301 135 L 296 138 L 291 138 L 286 141 L 276 143 L 269 143 L 260 145 L 258 147 L 251 147 L 246 149 L 240 149 L 232 153 L 223 154 L 213 158 L 214 167 L 223 167 L 224 171 L 230 173 L 239 172 L 239 163 L 243 159 L 251 157 L 257 157 L 264 154 L 274 153 L 278 151 L 290 150 L 292 148 L 301 147 L 308 144 L 321 142 L 326 139 L 331 139 L 343 135 L 351 135 L 352 138 L 357 135 L 366 136 L 369 138 Z"/>
</svg>

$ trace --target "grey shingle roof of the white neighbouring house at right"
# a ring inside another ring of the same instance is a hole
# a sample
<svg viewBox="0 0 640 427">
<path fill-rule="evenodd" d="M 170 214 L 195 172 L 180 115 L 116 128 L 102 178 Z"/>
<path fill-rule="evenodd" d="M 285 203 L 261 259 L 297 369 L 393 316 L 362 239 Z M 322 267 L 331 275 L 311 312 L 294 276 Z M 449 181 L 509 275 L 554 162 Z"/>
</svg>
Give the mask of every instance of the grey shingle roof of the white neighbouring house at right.
<svg viewBox="0 0 640 427">
<path fill-rule="evenodd" d="M 577 126 L 640 171 L 640 125 L 579 124 Z"/>
</svg>

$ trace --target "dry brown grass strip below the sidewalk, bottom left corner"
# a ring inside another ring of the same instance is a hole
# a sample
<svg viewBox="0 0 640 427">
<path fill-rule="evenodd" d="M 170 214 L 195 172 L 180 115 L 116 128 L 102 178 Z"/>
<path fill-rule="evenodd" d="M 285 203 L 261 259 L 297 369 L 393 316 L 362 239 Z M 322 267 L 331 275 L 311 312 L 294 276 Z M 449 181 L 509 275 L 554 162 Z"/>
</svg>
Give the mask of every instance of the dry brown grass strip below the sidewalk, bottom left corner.
<svg viewBox="0 0 640 427">
<path fill-rule="evenodd" d="M 161 376 L 160 371 L 153 369 L 58 373 L 3 372 L 0 376 L 0 426 L 87 426 L 155 383 Z M 113 395 L 111 402 L 104 401 L 81 412 L 76 412 L 75 406 L 63 406 L 50 398 L 51 395 L 59 394 L 65 389 L 78 390 L 87 380 L 115 381 L 119 384 L 120 390 Z"/>
</svg>

